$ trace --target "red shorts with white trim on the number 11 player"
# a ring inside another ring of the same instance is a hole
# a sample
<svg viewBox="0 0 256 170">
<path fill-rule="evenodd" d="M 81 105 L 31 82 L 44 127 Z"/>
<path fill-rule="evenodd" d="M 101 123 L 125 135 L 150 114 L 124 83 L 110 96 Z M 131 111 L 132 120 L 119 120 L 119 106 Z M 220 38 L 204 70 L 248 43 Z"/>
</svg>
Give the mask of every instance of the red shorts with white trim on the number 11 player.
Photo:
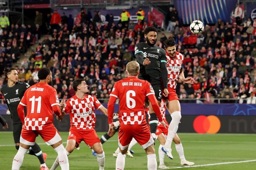
<svg viewBox="0 0 256 170">
<path fill-rule="evenodd" d="M 20 143 L 25 145 L 35 145 L 36 136 L 40 135 L 47 145 L 53 145 L 61 140 L 58 130 L 53 123 L 43 125 L 43 130 L 27 130 L 25 126 L 22 128 L 20 135 Z"/>
</svg>

